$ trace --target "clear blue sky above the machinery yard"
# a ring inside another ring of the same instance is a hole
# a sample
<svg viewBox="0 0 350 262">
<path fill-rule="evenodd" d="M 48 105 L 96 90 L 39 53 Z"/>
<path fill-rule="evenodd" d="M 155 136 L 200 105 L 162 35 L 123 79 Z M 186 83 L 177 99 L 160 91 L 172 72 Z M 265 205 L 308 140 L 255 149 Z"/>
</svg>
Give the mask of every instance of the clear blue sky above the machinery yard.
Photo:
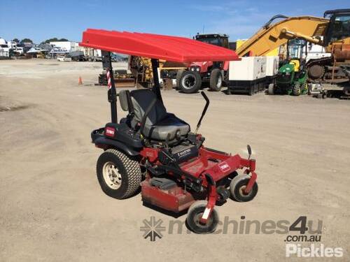
<svg viewBox="0 0 350 262">
<path fill-rule="evenodd" d="M 1 0 L 0 37 L 80 41 L 85 29 L 94 28 L 186 37 L 222 33 L 235 41 L 249 38 L 276 14 L 322 17 L 337 8 L 350 8 L 350 1 Z"/>
</svg>

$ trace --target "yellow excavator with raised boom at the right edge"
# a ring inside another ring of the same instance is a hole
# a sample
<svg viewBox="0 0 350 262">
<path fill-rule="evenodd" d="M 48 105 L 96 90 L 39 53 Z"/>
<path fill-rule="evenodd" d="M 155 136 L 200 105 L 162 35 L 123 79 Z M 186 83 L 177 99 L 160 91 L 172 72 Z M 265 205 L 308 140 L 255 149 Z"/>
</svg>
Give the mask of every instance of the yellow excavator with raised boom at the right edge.
<svg viewBox="0 0 350 262">
<path fill-rule="evenodd" d="M 263 56 L 293 38 L 322 45 L 330 53 L 307 62 L 308 82 L 350 96 L 350 9 L 327 10 L 323 17 L 275 15 L 236 52 L 240 57 Z"/>
</svg>

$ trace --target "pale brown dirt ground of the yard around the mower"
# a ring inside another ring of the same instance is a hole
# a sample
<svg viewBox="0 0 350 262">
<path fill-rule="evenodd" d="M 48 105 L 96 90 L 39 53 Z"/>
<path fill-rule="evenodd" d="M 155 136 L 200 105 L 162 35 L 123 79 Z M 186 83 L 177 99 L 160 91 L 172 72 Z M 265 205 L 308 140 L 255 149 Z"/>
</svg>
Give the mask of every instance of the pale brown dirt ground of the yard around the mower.
<svg viewBox="0 0 350 262">
<path fill-rule="evenodd" d="M 286 258 L 286 234 L 183 229 L 144 239 L 144 219 L 154 216 L 168 228 L 176 218 L 142 205 L 139 194 L 118 201 L 100 189 L 95 164 L 102 151 L 90 140 L 110 119 L 106 87 L 94 86 L 100 71 L 93 62 L 0 61 L 0 261 L 295 260 Z M 162 94 L 167 110 L 194 129 L 202 96 Z M 350 101 L 207 94 L 205 145 L 246 157 L 249 143 L 257 161 L 258 196 L 229 200 L 218 207 L 221 218 L 320 219 L 321 243 L 342 247 L 335 260 L 349 261 Z"/>
</svg>

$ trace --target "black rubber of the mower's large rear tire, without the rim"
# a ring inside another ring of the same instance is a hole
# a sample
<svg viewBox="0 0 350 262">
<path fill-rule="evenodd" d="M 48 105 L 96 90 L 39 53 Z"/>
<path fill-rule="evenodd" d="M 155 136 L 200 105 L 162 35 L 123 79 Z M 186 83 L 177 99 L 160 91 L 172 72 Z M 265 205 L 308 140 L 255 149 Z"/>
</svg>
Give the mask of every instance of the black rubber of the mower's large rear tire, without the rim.
<svg viewBox="0 0 350 262">
<path fill-rule="evenodd" d="M 104 180 L 103 168 L 106 162 L 113 162 L 121 175 L 121 184 L 118 189 L 112 189 Z M 127 157 L 126 154 L 118 150 L 106 150 L 97 160 L 97 179 L 102 191 L 108 196 L 117 199 L 132 196 L 141 184 L 141 168 L 138 161 Z"/>
</svg>

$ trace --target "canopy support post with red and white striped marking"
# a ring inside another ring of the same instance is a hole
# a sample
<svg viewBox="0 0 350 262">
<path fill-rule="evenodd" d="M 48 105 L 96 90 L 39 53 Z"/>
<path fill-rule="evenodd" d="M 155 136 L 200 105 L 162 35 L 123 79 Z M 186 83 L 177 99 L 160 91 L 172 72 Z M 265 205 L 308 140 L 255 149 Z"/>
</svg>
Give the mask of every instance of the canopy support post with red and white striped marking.
<svg viewBox="0 0 350 262">
<path fill-rule="evenodd" d="M 113 67 L 111 61 L 111 52 L 101 50 L 102 52 L 102 66 L 107 72 L 108 81 L 108 101 L 111 103 L 111 122 L 118 123 L 117 115 L 117 92 L 116 85 L 114 83 Z"/>
</svg>

